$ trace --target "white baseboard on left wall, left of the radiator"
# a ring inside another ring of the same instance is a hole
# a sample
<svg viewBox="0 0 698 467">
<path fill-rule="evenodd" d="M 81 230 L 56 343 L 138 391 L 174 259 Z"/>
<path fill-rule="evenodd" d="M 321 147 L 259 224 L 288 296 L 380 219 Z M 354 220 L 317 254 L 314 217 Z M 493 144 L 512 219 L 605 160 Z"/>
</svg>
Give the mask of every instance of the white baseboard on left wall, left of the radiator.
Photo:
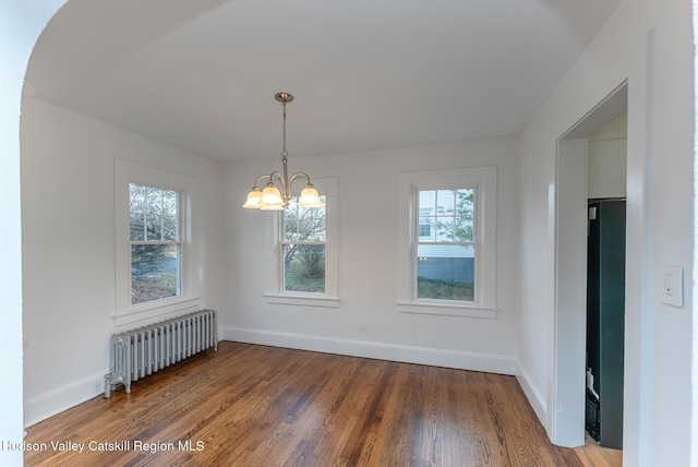
<svg viewBox="0 0 698 467">
<path fill-rule="evenodd" d="M 84 378 L 24 402 L 24 428 L 68 410 L 105 392 L 105 373 Z"/>
</svg>

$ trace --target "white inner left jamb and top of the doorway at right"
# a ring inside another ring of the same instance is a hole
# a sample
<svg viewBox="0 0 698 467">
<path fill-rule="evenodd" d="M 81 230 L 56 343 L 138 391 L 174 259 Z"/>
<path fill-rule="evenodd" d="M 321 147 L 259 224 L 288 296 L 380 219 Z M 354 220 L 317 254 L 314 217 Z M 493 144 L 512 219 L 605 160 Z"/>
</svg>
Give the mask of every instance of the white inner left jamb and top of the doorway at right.
<svg viewBox="0 0 698 467">
<path fill-rule="evenodd" d="M 627 111 L 621 85 L 557 141 L 555 180 L 555 319 L 551 439 L 581 446 L 586 432 L 587 231 L 589 137 Z M 625 173 L 623 175 L 625 176 Z"/>
</svg>

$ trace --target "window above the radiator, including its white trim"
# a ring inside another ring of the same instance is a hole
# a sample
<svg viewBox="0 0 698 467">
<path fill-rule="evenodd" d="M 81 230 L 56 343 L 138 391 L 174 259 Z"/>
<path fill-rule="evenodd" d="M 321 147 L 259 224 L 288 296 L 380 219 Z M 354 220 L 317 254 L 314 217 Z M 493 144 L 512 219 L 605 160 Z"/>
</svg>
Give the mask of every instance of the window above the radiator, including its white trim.
<svg viewBox="0 0 698 467">
<path fill-rule="evenodd" d="M 115 161 L 117 325 L 201 308 L 190 213 L 196 179 Z"/>
</svg>

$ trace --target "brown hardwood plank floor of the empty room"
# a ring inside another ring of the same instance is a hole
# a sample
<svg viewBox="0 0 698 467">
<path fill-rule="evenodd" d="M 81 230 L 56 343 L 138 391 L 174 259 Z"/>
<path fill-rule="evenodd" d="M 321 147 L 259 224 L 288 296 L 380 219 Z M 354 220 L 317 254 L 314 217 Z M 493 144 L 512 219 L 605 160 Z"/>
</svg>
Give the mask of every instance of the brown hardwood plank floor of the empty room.
<svg viewBox="0 0 698 467">
<path fill-rule="evenodd" d="M 230 342 L 27 432 L 27 466 L 594 465 L 513 376 Z"/>
</svg>

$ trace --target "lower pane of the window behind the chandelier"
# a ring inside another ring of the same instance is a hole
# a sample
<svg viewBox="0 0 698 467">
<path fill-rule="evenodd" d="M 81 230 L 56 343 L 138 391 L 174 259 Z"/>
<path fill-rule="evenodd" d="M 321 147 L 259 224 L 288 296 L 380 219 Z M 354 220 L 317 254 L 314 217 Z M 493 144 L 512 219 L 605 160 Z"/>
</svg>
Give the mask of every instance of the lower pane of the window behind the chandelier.
<svg viewBox="0 0 698 467">
<path fill-rule="evenodd" d="M 325 291 L 325 246 L 284 246 L 284 290 Z"/>
</svg>

